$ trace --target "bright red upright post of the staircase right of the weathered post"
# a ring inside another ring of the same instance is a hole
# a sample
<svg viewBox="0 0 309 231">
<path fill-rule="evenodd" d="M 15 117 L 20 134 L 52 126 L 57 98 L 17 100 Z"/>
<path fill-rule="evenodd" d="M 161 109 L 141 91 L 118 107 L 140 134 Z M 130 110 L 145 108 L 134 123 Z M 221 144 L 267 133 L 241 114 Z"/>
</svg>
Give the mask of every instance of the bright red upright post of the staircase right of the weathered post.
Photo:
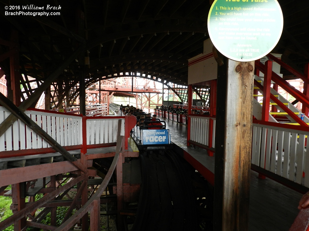
<svg viewBox="0 0 309 231">
<path fill-rule="evenodd" d="M 270 105 L 270 85 L 271 75 L 273 69 L 273 62 L 268 60 L 265 63 L 265 74 L 264 74 L 264 90 L 263 90 L 263 105 L 262 105 L 262 120 L 269 120 L 269 105 Z"/>
</svg>

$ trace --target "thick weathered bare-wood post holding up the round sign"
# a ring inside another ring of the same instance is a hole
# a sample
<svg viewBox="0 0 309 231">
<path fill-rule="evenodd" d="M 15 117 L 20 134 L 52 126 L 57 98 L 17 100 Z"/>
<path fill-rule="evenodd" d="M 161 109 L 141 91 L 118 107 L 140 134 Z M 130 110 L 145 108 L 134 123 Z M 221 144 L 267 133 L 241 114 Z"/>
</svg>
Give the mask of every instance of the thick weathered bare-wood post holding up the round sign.
<svg viewBox="0 0 309 231">
<path fill-rule="evenodd" d="M 254 62 L 218 67 L 214 230 L 248 230 Z"/>
</svg>

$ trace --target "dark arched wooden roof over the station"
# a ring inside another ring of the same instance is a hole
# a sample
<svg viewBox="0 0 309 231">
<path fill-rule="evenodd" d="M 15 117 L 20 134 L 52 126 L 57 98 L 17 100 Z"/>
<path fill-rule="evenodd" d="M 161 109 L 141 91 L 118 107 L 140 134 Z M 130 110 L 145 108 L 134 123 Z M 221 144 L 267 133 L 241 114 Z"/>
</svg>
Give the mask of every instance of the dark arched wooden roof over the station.
<svg viewBox="0 0 309 231">
<path fill-rule="evenodd" d="M 86 87 L 102 77 L 112 78 L 126 72 L 141 72 L 155 81 L 187 85 L 188 58 L 202 53 L 203 41 L 209 38 L 207 17 L 211 2 L 3 0 L 1 39 L 12 40 L 12 29 L 18 31 L 19 66 L 24 74 L 21 84 L 28 96 L 34 90 L 27 76 L 35 78 L 32 81 L 39 86 L 56 70 L 52 82 L 63 82 L 66 94 L 75 94 L 74 97 L 77 90 L 72 87 L 80 76 L 86 80 Z M 272 52 L 282 54 L 282 61 L 303 72 L 304 64 L 309 61 L 309 6 L 305 0 L 278 2 L 284 15 L 284 30 Z M 5 6 L 13 4 L 21 7 L 33 4 L 44 9 L 47 5 L 61 6 L 60 10 L 44 10 L 60 15 L 5 15 Z M 0 54 L 10 51 L 6 45 L 10 44 L 0 45 Z M 84 59 L 89 65 L 84 64 Z M 9 60 L 2 57 L 0 61 L 2 71 L 9 75 Z M 281 73 L 284 78 L 294 78 L 284 68 Z"/>
</svg>

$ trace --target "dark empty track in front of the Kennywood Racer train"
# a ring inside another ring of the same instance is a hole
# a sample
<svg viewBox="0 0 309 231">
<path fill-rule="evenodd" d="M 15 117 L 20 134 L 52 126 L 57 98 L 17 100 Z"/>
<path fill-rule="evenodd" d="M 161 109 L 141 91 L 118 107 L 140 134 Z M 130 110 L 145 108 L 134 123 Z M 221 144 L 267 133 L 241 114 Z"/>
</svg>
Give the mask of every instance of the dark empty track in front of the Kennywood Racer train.
<svg viewBox="0 0 309 231">
<path fill-rule="evenodd" d="M 178 156 L 141 155 L 142 188 L 132 231 L 197 230 L 193 190 Z"/>
</svg>

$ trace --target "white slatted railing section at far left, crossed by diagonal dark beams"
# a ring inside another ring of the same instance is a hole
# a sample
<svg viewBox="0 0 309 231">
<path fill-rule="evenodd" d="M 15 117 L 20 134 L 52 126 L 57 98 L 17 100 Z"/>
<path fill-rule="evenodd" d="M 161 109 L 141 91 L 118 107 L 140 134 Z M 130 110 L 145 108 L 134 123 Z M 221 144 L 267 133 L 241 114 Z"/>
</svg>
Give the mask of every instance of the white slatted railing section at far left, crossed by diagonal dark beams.
<svg viewBox="0 0 309 231">
<path fill-rule="evenodd" d="M 7 109 L 0 107 L 0 123 L 10 114 Z M 82 116 L 35 109 L 27 110 L 25 114 L 62 146 L 82 144 Z M 0 151 L 48 147 L 50 145 L 46 141 L 20 120 L 16 120 L 0 137 Z"/>
</svg>

